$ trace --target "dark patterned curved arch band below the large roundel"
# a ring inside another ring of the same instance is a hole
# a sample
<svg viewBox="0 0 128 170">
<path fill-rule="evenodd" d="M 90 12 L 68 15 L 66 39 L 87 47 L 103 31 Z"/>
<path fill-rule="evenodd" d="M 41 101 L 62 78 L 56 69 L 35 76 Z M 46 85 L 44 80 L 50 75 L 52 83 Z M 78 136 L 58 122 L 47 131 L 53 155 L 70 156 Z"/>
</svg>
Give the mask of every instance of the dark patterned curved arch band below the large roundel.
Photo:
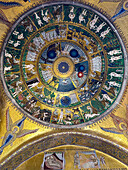
<svg viewBox="0 0 128 170">
<path fill-rule="evenodd" d="M 15 169 L 21 163 L 36 154 L 62 145 L 76 145 L 96 149 L 128 165 L 128 151 L 125 148 L 120 147 L 109 140 L 90 134 L 80 132 L 62 132 L 40 138 L 25 145 L 2 162 L 0 169 Z"/>
</svg>

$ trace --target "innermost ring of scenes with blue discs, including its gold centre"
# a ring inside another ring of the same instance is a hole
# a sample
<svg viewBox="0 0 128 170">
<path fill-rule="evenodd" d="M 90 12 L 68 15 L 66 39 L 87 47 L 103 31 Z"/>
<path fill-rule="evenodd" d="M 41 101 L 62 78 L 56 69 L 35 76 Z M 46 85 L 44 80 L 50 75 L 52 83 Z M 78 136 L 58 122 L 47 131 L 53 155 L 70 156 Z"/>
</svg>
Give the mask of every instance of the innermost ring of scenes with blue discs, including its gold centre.
<svg viewBox="0 0 128 170">
<path fill-rule="evenodd" d="M 46 88 L 65 93 L 85 85 L 90 65 L 83 47 L 69 40 L 59 40 L 44 46 L 37 67 L 39 79 Z"/>
</svg>

